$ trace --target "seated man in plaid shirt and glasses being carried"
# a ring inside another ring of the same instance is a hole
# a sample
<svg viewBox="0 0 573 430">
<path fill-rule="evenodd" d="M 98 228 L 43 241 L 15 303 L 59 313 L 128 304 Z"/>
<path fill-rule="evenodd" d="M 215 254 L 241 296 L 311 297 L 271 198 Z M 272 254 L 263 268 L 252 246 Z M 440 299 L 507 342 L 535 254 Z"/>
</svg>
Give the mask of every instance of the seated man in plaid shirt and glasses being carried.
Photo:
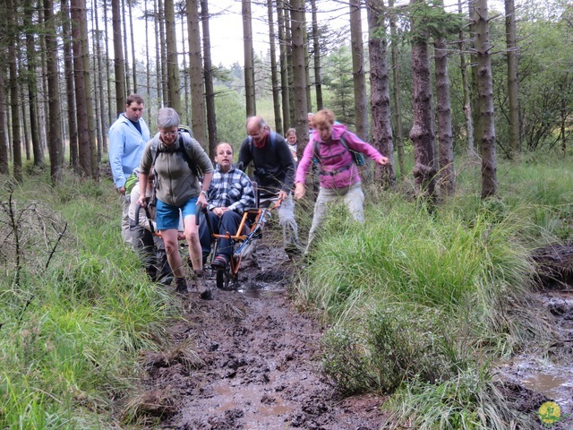
<svg viewBox="0 0 573 430">
<path fill-rule="evenodd" d="M 207 190 L 209 205 L 208 211 L 201 216 L 199 236 L 203 260 L 210 254 L 211 236 L 207 226 L 206 217 L 210 217 L 213 233 L 218 235 L 235 235 L 243 213 L 255 205 L 254 190 L 251 179 L 243 170 L 233 165 L 233 148 L 230 144 L 222 142 L 215 149 L 215 162 L 217 166 Z M 231 260 L 233 246 L 231 241 L 219 238 L 218 254 L 211 262 L 213 269 L 226 269 Z"/>
</svg>

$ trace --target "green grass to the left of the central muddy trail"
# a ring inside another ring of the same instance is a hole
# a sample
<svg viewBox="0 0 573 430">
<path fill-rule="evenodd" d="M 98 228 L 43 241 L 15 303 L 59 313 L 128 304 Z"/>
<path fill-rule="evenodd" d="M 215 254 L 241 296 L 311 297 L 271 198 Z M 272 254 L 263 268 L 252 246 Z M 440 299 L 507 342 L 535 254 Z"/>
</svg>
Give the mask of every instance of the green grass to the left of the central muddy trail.
<svg viewBox="0 0 573 430">
<path fill-rule="evenodd" d="M 113 185 L 66 178 L 54 190 L 42 179 L 27 178 L 13 197 L 45 202 L 58 214 L 54 228 L 65 238 L 46 268 L 46 258 L 39 258 L 46 252 L 44 230 L 21 226 L 38 235 L 37 247 L 21 255 L 18 282 L 13 262 L 4 267 L 0 426 L 117 428 L 116 408 L 133 389 L 138 353 L 165 339 L 175 303 L 165 288 L 146 280 L 123 245 Z"/>
</svg>

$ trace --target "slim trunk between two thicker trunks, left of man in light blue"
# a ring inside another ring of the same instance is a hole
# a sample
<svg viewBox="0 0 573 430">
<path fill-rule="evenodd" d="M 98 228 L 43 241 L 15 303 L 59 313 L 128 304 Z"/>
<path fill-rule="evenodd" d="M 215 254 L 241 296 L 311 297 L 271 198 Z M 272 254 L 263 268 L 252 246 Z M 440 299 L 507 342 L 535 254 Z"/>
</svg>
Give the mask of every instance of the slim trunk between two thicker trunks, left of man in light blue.
<svg viewBox="0 0 573 430">
<path fill-rule="evenodd" d="M 64 39 L 65 96 L 68 107 L 70 166 L 75 173 L 80 173 L 80 161 L 78 159 L 78 125 L 76 123 L 75 94 L 73 88 L 72 18 L 70 16 L 70 4 L 68 0 L 62 0 L 60 8 L 64 16 L 62 20 L 62 37 Z M 109 106 L 111 107 L 111 104 Z"/>
</svg>

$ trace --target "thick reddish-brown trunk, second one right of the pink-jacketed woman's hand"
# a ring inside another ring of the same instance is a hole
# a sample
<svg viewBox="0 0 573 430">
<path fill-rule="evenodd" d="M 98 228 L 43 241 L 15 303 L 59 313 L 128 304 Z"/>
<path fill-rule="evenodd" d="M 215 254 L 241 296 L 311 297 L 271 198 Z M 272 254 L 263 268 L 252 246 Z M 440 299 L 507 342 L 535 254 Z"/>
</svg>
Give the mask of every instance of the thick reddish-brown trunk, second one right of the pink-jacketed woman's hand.
<svg viewBox="0 0 573 430">
<path fill-rule="evenodd" d="M 422 0 L 413 0 L 412 3 Z M 414 145 L 414 177 L 417 193 L 431 201 L 435 197 L 436 160 L 432 109 L 432 79 L 428 54 L 428 32 L 422 20 L 412 20 L 412 113 L 410 140 Z"/>
</svg>

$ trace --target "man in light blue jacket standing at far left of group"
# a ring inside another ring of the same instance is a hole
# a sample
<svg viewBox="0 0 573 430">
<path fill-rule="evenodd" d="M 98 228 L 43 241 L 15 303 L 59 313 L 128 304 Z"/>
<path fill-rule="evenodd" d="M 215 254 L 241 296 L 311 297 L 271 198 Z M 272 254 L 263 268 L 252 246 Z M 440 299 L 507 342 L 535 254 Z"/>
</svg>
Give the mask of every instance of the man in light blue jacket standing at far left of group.
<svg viewBox="0 0 573 430">
<path fill-rule="evenodd" d="M 145 144 L 151 139 L 150 129 L 141 117 L 143 98 L 132 94 L 121 114 L 109 127 L 109 164 L 114 184 L 122 203 L 122 237 L 126 244 L 132 243 L 129 230 L 129 195 L 125 194 L 125 179 L 139 167 Z"/>
</svg>

